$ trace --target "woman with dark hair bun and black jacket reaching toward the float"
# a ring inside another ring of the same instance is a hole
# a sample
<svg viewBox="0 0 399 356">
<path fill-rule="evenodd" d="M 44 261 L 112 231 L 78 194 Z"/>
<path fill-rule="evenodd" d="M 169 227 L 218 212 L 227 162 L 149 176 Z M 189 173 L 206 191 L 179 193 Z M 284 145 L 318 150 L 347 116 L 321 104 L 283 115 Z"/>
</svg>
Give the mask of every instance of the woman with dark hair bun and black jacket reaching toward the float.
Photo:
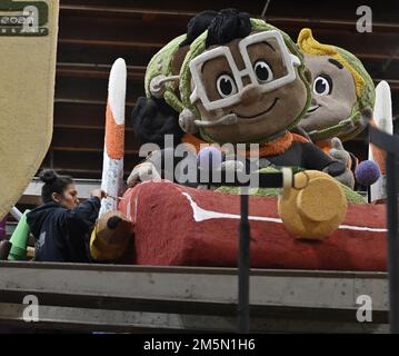
<svg viewBox="0 0 399 356">
<path fill-rule="evenodd" d="M 27 222 L 36 239 L 34 260 L 59 263 L 90 263 L 88 243 L 100 210 L 100 189 L 79 204 L 73 179 L 43 170 L 41 191 L 43 204 L 27 215 Z"/>
</svg>

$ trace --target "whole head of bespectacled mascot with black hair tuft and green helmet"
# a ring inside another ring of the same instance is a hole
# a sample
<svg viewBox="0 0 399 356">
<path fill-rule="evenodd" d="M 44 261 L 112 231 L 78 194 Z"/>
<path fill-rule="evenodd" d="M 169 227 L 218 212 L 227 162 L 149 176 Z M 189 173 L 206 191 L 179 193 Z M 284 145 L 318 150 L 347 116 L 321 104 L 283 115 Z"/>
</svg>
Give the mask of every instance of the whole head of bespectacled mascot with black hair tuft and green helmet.
<svg viewBox="0 0 399 356">
<path fill-rule="evenodd" d="M 207 141 L 273 140 L 297 125 L 309 102 L 302 58 L 290 38 L 231 9 L 192 42 L 180 79 L 183 106 Z"/>
</svg>

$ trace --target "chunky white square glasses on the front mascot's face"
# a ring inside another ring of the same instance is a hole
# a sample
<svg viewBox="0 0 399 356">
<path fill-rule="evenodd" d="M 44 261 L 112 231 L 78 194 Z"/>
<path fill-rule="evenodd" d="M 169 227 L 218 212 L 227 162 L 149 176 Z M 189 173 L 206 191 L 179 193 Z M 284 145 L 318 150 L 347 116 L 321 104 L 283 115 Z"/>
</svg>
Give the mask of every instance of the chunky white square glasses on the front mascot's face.
<svg viewBox="0 0 399 356">
<path fill-rule="evenodd" d="M 259 46 L 255 50 L 257 44 L 265 44 L 265 50 Z M 260 86 L 262 92 L 283 87 L 296 79 L 295 67 L 300 66 L 300 59 L 289 52 L 280 32 L 272 30 L 250 34 L 238 42 L 238 49 L 245 65 L 242 70 L 238 69 L 229 46 L 219 46 L 191 60 L 190 71 L 194 83 L 191 103 L 200 99 L 208 111 L 238 103 L 241 101 L 245 77 L 249 77 L 251 83 Z M 278 63 L 272 66 L 269 58 Z M 216 59 L 227 63 L 229 70 L 220 72 L 216 80 L 219 98 L 210 98 L 207 90 L 209 83 L 202 80 L 202 67 Z M 275 70 L 273 67 L 279 67 L 280 70 Z"/>
</svg>

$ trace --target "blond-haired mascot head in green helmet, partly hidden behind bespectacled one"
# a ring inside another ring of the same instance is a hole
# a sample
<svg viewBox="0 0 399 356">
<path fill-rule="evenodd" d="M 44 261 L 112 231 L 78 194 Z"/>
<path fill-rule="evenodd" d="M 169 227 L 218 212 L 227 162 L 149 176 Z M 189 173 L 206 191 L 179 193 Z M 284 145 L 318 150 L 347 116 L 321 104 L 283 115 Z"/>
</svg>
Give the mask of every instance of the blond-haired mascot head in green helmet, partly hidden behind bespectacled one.
<svg viewBox="0 0 399 356">
<path fill-rule="evenodd" d="M 298 46 L 312 76 L 312 101 L 300 126 L 313 140 L 335 136 L 348 140 L 371 118 L 375 86 L 358 58 L 322 44 L 302 29 Z"/>
</svg>

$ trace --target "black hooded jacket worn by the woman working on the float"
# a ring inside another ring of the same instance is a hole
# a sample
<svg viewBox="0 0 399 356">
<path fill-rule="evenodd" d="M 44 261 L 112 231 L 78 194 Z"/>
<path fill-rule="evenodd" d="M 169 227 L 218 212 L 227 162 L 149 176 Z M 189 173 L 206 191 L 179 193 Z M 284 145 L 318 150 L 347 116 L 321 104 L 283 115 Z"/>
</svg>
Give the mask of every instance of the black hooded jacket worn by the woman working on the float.
<svg viewBox="0 0 399 356">
<path fill-rule="evenodd" d="M 36 239 L 34 260 L 89 263 L 89 234 L 100 210 L 97 197 L 73 209 L 48 202 L 27 215 L 27 222 Z"/>
</svg>

